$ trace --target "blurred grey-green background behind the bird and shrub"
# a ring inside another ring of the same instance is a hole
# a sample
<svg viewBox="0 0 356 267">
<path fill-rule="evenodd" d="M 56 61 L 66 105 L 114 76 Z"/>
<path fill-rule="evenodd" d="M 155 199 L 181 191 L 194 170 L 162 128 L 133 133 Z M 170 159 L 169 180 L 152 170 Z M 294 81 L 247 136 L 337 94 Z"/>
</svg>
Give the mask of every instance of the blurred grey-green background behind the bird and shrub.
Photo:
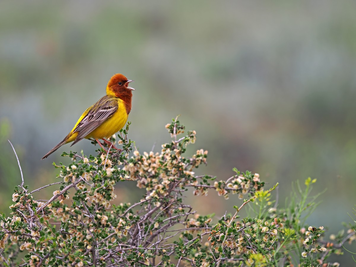
<svg viewBox="0 0 356 267">
<path fill-rule="evenodd" d="M 292 183 L 316 178 L 312 194 L 327 191 L 308 223 L 336 233 L 356 204 L 355 10 L 353 0 L 1 1 L 0 211 L 21 180 L 7 139 L 30 188 L 56 182 L 51 163 L 67 162 L 69 145 L 41 157 L 119 72 L 135 80 L 129 137 L 141 152 L 159 151 L 180 114 L 197 131 L 188 153 L 209 151 L 197 173 L 260 173 L 280 183 L 281 206 Z M 142 194 L 134 182 L 117 190 L 119 202 Z M 216 216 L 239 203 L 187 197 Z"/>
</svg>

